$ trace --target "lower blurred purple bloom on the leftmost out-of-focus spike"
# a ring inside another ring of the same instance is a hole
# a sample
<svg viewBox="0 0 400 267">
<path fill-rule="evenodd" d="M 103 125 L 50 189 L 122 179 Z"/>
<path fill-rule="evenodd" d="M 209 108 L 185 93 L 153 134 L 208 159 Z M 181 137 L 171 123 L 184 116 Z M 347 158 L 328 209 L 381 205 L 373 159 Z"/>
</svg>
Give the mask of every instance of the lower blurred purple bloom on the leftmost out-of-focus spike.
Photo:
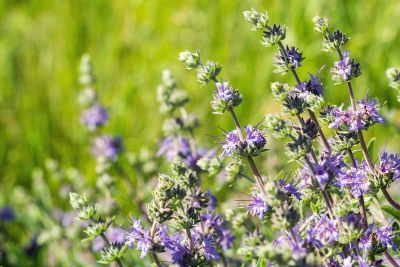
<svg viewBox="0 0 400 267">
<path fill-rule="evenodd" d="M 94 139 L 92 153 L 100 159 L 116 160 L 122 149 L 121 138 L 103 135 Z"/>
</svg>

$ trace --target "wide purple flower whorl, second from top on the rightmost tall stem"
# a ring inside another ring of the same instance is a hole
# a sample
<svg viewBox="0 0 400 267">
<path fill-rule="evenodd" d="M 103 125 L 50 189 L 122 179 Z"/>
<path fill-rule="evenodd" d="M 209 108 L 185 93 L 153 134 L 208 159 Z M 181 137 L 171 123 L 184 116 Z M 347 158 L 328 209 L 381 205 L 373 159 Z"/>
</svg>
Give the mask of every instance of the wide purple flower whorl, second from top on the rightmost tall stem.
<svg viewBox="0 0 400 267">
<path fill-rule="evenodd" d="M 345 111 L 342 106 L 333 107 L 330 110 L 333 121 L 329 124 L 329 128 L 356 132 L 365 130 L 374 123 L 384 122 L 378 112 L 380 107 L 377 100 L 363 99 L 357 104 L 359 109 L 356 112 L 353 109 Z"/>
</svg>

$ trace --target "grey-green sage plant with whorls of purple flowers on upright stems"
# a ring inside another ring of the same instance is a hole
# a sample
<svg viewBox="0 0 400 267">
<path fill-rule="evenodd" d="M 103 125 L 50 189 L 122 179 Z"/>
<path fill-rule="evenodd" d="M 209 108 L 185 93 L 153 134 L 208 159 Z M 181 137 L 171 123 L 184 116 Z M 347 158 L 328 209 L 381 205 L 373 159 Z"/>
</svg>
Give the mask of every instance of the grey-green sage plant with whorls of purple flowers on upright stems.
<svg viewBox="0 0 400 267">
<path fill-rule="evenodd" d="M 326 18 L 313 19 L 322 50 L 337 56 L 326 64 L 329 76 L 350 105 L 327 103 L 324 92 L 333 88 L 322 84 L 320 70 L 298 74 L 306 55 L 286 41 L 286 26 L 270 22 L 267 13 L 243 15 L 261 45 L 276 50 L 274 72 L 290 76 L 286 83 L 270 83 L 281 111 L 258 123 L 242 122 L 237 109 L 248 103 L 223 78 L 222 65 L 203 60 L 199 51 L 182 52 L 179 61 L 196 73 L 201 90 L 213 88 L 210 110 L 230 117 L 232 128 L 216 137 L 219 151 L 201 145 L 196 134 L 202 126 L 189 112 L 189 95 L 165 70 L 157 88 L 165 121 L 156 156 L 170 168 L 157 177 L 157 159 L 129 156 L 121 139 L 103 133 L 109 113 L 94 89 L 90 59 L 83 57 L 81 122 L 92 143 L 102 197 L 77 189 L 70 203 L 97 261 L 158 267 L 399 266 L 400 204 L 389 189 L 400 179 L 400 156 L 382 151 L 375 158 L 369 150 L 365 132 L 385 121 L 377 99 L 355 98 L 362 69 L 346 50 L 350 38 Z M 399 69 L 389 69 L 387 77 L 399 90 Z M 295 172 L 263 173 L 260 159 L 268 157 L 269 138 L 282 141 Z M 131 179 L 130 169 L 141 179 Z M 222 182 L 208 188 L 210 180 Z M 114 188 L 126 185 L 151 189 L 147 195 L 140 189 L 128 193 L 140 216 L 118 215 Z M 217 201 L 226 190 L 234 191 L 234 199 Z M 390 206 L 377 201 L 381 194 Z"/>
</svg>

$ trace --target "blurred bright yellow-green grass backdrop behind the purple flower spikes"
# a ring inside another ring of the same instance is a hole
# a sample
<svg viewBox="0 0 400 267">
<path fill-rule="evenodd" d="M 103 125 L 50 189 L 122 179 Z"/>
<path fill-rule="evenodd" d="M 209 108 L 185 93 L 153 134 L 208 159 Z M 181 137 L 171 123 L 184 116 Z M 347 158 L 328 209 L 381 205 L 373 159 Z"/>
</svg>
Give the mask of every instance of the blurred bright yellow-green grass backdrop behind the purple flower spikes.
<svg viewBox="0 0 400 267">
<path fill-rule="evenodd" d="M 344 86 L 334 87 L 329 68 L 335 55 L 321 51 L 312 17 L 327 16 L 346 32 L 348 49 L 361 63 L 355 81 L 358 98 L 369 95 L 398 107 L 384 71 L 400 65 L 400 2 L 343 1 L 150 1 L 150 0 L 3 0 L 0 1 L 0 188 L 28 184 L 35 166 L 46 158 L 76 166 L 83 173 L 93 166 L 84 129 L 79 125 L 79 60 L 92 56 L 97 90 L 111 110 L 110 133 L 138 150 L 154 147 L 163 117 L 158 113 L 156 86 L 161 71 L 170 68 L 192 97 L 191 111 L 203 123 L 198 136 L 218 135 L 218 126 L 232 127 L 228 117 L 211 114 L 211 87 L 200 88 L 194 73 L 177 61 L 182 50 L 199 49 L 203 58 L 219 61 L 222 77 L 244 95 L 238 109 L 242 122 L 255 123 L 278 104 L 269 83 L 293 82 L 272 73 L 274 49 L 260 45 L 242 11 L 268 10 L 271 20 L 288 26 L 286 43 L 304 51 L 300 75 L 323 65 L 325 94 L 333 103 L 348 103 Z M 393 116 L 393 114 L 388 114 Z M 374 126 L 369 133 L 380 146 L 394 147 L 393 128 Z M 382 137 L 382 138 L 379 138 Z M 398 147 L 397 147 L 398 148 Z M 286 159 L 285 159 L 286 162 Z"/>
</svg>

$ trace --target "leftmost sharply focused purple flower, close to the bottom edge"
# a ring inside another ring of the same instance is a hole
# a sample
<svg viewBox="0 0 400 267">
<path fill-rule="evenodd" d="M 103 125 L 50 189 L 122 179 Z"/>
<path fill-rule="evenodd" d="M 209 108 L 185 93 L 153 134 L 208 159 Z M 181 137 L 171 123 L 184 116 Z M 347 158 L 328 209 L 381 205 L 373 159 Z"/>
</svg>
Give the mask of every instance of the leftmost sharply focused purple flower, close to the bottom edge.
<svg viewBox="0 0 400 267">
<path fill-rule="evenodd" d="M 150 230 L 143 228 L 140 220 L 132 219 L 131 231 L 125 237 L 125 240 L 125 244 L 131 248 L 136 244 L 137 249 L 141 251 L 141 258 L 144 258 L 153 246 Z"/>
</svg>

